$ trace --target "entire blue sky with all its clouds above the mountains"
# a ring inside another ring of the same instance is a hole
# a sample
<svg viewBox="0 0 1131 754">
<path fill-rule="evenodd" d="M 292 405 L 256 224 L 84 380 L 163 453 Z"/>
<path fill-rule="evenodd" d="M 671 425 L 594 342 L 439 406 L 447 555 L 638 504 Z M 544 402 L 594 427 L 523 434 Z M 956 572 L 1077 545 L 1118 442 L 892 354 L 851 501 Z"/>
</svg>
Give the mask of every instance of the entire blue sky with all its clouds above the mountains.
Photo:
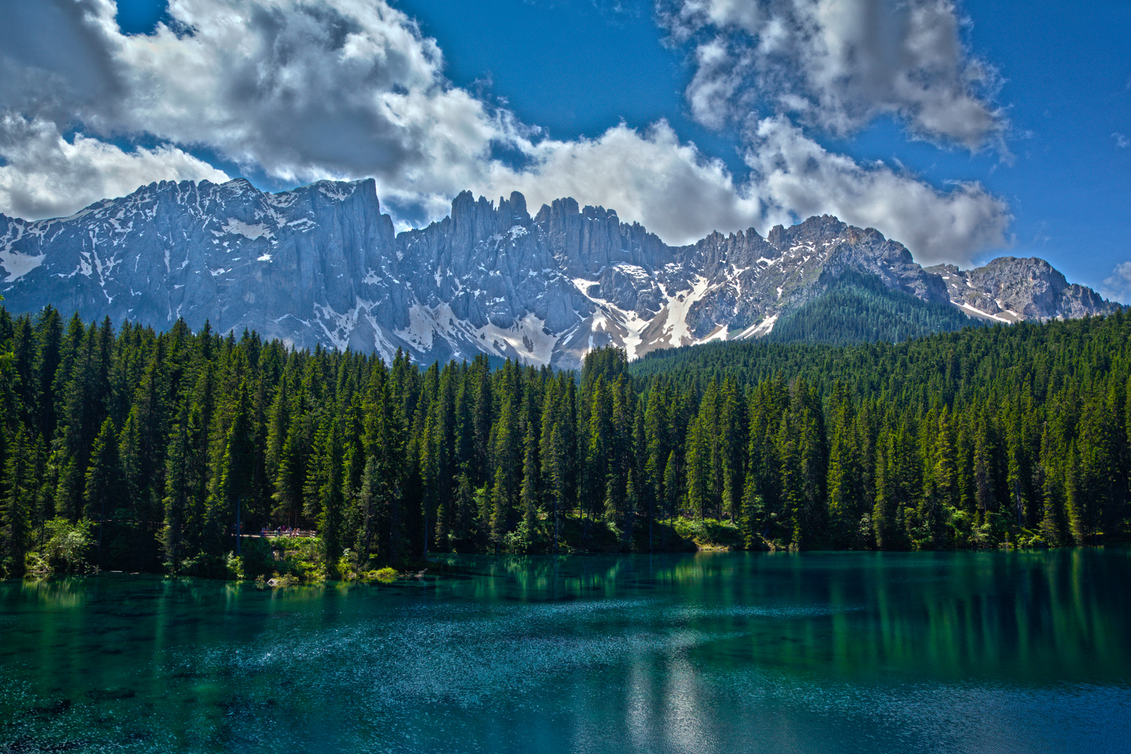
<svg viewBox="0 0 1131 754">
<path fill-rule="evenodd" d="M 1131 3 L 120 0 L 113 28 L 100 0 L 16 1 L 7 214 L 373 175 L 402 227 L 464 188 L 670 242 L 829 211 L 924 263 L 1038 255 L 1131 301 Z"/>
</svg>

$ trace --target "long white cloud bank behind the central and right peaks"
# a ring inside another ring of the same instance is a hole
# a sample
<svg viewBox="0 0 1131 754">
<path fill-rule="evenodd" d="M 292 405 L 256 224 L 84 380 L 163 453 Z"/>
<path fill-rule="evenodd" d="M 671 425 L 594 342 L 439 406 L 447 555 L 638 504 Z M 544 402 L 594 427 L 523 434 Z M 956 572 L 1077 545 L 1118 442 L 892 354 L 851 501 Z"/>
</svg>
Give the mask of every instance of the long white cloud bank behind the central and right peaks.
<svg viewBox="0 0 1131 754">
<path fill-rule="evenodd" d="M 939 191 L 883 164 L 861 166 L 780 116 L 760 121 L 749 140 L 746 182 L 661 122 L 644 133 L 621 124 L 597 139 L 529 145 L 526 170 L 497 165 L 491 180 L 475 188 L 489 197 L 517 188 L 533 207 L 577 197 L 612 207 L 673 244 L 715 229 L 753 226 L 765 234 L 772 225 L 822 214 L 874 227 L 927 265 L 969 266 L 1008 243 L 1009 207 L 978 183 Z"/>
</svg>

